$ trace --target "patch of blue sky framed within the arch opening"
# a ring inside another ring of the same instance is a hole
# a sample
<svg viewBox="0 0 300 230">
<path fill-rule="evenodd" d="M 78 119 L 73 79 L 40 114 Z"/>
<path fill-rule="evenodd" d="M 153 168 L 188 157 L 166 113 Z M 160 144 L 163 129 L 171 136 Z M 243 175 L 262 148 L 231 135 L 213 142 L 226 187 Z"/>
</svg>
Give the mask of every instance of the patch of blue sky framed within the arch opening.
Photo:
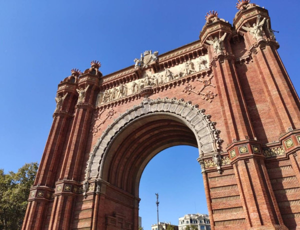
<svg viewBox="0 0 300 230">
<path fill-rule="evenodd" d="M 151 224 L 157 222 L 155 193 L 159 194 L 161 222 L 178 225 L 178 217 L 185 214 L 208 213 L 196 158 L 197 148 L 177 145 L 160 151 L 146 165 L 139 183 L 138 212 L 144 229 L 150 229 Z"/>
</svg>

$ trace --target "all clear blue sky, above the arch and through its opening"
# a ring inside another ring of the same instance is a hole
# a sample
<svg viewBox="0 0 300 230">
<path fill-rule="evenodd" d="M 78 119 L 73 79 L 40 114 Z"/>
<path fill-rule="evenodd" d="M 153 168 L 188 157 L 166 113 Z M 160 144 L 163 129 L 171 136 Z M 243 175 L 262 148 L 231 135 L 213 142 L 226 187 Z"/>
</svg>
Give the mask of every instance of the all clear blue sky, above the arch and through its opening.
<svg viewBox="0 0 300 230">
<path fill-rule="evenodd" d="M 253 2 L 269 10 L 272 28 L 280 31 L 275 34 L 280 44 L 278 52 L 299 93 L 299 2 Z M 83 71 L 96 59 L 101 62 L 100 70 L 105 75 L 134 64 L 133 59 L 144 50 L 158 50 L 161 54 L 192 42 L 198 39 L 207 11 L 217 10 L 219 17 L 232 23 L 237 11 L 235 3 L 235 0 L 2 1 L 0 168 L 15 171 L 25 162 L 40 161 L 52 122 L 57 84 L 70 75 L 71 68 Z M 177 180 L 182 173 L 184 178 L 202 186 L 193 151 L 170 148 L 169 152 L 155 156 L 145 168 L 141 179 L 144 187 L 156 186 L 160 181 L 155 191 L 140 191 L 143 200 L 140 213 L 144 210 L 152 213 L 154 208 L 153 216 L 142 216 L 145 230 L 156 221 L 155 192 L 161 197 L 161 221 L 177 223 L 180 215 L 195 209 L 201 212 L 200 206 L 206 205 L 205 199 L 195 204 L 181 202 L 203 196 L 199 193 L 203 189 L 198 187 L 186 187 L 180 193 L 182 187 L 190 184 Z M 182 163 L 182 158 L 188 167 L 184 170 L 180 167 L 178 175 L 175 160 Z M 195 161 L 194 166 L 191 161 Z M 170 217 L 163 214 L 163 208 L 168 208 L 165 213 L 180 209 L 182 214 Z"/>
</svg>

